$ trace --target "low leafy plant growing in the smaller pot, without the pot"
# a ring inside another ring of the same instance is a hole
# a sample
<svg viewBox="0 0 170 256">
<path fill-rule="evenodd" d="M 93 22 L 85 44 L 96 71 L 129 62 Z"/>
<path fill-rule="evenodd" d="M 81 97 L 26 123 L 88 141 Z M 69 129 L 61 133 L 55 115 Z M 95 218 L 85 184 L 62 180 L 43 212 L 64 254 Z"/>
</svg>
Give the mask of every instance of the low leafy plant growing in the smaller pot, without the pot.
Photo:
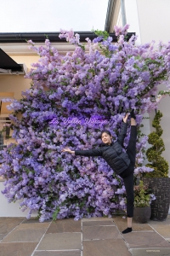
<svg viewBox="0 0 170 256">
<path fill-rule="evenodd" d="M 134 207 L 149 207 L 151 201 L 154 200 L 156 196 L 150 194 L 149 187 L 140 180 L 139 185 L 134 186 Z"/>
</svg>

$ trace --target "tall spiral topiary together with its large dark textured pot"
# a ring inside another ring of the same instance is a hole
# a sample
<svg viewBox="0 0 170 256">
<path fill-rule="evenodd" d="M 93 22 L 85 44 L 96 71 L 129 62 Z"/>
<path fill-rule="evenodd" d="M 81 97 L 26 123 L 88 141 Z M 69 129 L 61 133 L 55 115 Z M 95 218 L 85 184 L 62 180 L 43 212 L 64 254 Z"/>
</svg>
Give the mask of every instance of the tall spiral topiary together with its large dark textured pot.
<svg viewBox="0 0 170 256">
<path fill-rule="evenodd" d="M 168 177 L 168 163 L 161 154 L 165 150 L 163 140 L 161 138 L 162 129 L 160 125 L 162 113 L 156 112 L 152 126 L 156 131 L 152 131 L 149 135 L 148 143 L 152 145 L 146 150 L 146 157 L 149 164 L 146 166 L 154 169 L 153 172 L 144 173 L 144 184 L 149 185 L 152 193 L 156 195 L 156 201 L 151 202 L 151 219 L 165 220 L 167 218 L 170 202 L 170 178 Z"/>
</svg>

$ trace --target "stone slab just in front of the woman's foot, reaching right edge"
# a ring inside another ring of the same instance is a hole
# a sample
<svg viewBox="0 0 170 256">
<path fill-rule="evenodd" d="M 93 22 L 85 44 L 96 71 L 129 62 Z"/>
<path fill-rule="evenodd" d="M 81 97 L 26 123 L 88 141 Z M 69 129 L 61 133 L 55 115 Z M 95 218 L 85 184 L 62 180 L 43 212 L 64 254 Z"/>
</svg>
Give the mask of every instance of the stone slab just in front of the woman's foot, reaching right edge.
<svg viewBox="0 0 170 256">
<path fill-rule="evenodd" d="M 156 232 L 130 232 L 122 235 L 130 248 L 169 247 L 170 243 Z"/>
</svg>

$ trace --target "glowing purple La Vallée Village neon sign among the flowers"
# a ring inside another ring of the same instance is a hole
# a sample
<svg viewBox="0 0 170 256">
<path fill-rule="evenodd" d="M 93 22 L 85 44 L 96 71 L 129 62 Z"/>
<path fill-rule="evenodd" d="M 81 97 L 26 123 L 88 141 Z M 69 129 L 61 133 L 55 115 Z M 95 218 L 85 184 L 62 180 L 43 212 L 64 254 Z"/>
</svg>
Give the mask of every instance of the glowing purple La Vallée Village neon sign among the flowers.
<svg viewBox="0 0 170 256">
<path fill-rule="evenodd" d="M 85 125 L 85 124 L 93 124 L 93 125 L 105 125 L 108 124 L 108 120 L 102 119 L 100 116 L 96 117 L 91 117 L 91 118 L 86 118 L 86 119 L 80 119 L 77 117 L 71 117 L 71 118 L 62 118 L 61 119 L 62 123 L 65 125 L 71 125 L 71 124 L 76 124 L 76 125 Z M 49 125 L 59 125 L 59 119 L 53 118 L 48 122 Z"/>
</svg>

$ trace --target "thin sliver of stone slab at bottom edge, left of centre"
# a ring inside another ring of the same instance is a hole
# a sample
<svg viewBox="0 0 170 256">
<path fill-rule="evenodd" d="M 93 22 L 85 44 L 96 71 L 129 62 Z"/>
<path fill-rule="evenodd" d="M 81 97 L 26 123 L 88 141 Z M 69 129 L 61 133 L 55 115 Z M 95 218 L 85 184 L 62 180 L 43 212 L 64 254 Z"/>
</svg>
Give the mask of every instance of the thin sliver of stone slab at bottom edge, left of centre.
<svg viewBox="0 0 170 256">
<path fill-rule="evenodd" d="M 81 256 L 81 251 L 36 251 L 33 256 Z"/>
</svg>

